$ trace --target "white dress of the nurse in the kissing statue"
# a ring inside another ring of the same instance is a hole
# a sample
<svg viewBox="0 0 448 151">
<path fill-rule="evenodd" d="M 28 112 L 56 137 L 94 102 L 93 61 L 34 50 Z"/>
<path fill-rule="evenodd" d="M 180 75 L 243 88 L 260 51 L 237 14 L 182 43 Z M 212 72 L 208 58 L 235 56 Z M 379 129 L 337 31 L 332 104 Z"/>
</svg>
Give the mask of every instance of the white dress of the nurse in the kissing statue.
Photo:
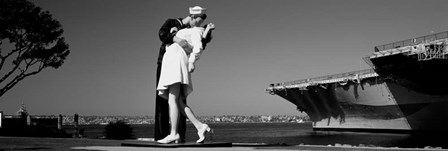
<svg viewBox="0 0 448 151">
<path fill-rule="evenodd" d="M 157 84 L 158 95 L 168 99 L 169 86 L 181 83 L 183 94 L 186 98 L 193 91 L 191 73 L 188 72 L 188 62 L 195 62 L 202 52 L 202 34 L 204 28 L 193 27 L 179 30 L 176 36 L 188 41 L 192 48 L 182 48 L 177 43 L 166 46 L 166 52 L 162 60 L 162 69 L 159 83 Z M 182 92 L 182 91 L 181 91 Z"/>
</svg>

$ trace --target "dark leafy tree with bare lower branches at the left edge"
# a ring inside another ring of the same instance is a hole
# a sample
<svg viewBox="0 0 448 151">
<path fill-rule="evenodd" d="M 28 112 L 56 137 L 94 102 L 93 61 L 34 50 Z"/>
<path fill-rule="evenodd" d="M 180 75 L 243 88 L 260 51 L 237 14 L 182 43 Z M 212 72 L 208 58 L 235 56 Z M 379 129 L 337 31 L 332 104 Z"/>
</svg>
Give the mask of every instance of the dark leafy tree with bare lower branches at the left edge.
<svg viewBox="0 0 448 151">
<path fill-rule="evenodd" d="M 61 24 L 26 0 L 0 0 L 0 97 L 69 55 Z"/>
</svg>

